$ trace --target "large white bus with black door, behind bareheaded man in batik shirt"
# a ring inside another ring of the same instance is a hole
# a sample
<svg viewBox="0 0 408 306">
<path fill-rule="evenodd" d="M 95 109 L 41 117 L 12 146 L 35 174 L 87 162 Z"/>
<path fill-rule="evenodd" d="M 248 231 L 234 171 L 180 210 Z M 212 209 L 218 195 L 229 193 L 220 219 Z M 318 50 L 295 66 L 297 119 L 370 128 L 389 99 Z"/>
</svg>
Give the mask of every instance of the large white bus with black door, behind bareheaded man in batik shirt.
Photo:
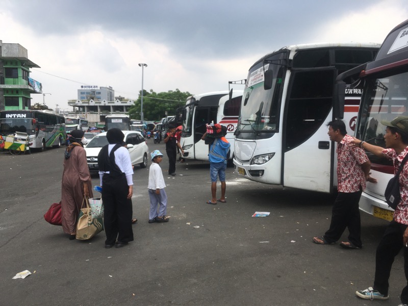
<svg viewBox="0 0 408 306">
<path fill-rule="evenodd" d="M 361 91 L 334 105 L 336 77 L 371 61 L 379 44 L 284 47 L 249 68 L 235 132 L 234 166 L 249 180 L 330 193 L 337 185 L 335 145 L 326 124 L 345 113 L 353 134 Z M 347 82 L 352 82 L 348 79 Z"/>
</svg>

